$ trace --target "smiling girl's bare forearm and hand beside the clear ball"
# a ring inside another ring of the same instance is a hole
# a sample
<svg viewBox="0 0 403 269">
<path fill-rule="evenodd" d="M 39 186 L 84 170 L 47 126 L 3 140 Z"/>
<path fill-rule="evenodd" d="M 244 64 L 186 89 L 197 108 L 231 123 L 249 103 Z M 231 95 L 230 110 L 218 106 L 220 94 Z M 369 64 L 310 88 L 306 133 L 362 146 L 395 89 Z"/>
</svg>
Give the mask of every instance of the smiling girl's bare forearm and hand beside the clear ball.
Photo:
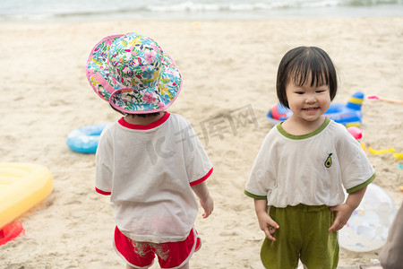
<svg viewBox="0 0 403 269">
<path fill-rule="evenodd" d="M 334 220 L 333 224 L 329 228 L 329 230 L 340 230 L 346 225 L 348 219 L 351 217 L 351 214 L 356 210 L 357 206 L 361 203 L 361 200 L 364 197 L 366 187 L 357 190 L 354 193 L 351 193 L 347 196 L 346 203 L 339 204 L 336 206 L 331 206 L 330 211 L 337 211 L 338 215 L 336 220 Z"/>
</svg>

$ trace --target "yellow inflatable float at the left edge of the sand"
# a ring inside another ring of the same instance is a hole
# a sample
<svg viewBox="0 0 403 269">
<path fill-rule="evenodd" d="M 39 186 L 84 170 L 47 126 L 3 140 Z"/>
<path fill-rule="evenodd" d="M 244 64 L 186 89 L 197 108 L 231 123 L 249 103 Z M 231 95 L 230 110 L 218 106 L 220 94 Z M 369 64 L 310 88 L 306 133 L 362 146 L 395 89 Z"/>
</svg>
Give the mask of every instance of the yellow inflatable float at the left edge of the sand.
<svg viewBox="0 0 403 269">
<path fill-rule="evenodd" d="M 52 175 L 46 167 L 0 162 L 0 230 L 50 194 Z"/>
</svg>

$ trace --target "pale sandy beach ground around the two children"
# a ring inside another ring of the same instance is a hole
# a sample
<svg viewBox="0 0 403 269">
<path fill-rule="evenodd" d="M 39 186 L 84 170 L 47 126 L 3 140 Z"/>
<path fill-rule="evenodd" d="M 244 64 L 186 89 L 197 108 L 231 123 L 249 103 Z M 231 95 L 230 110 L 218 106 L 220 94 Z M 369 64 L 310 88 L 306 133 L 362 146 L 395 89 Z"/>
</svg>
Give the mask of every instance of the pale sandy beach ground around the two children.
<svg viewBox="0 0 403 269">
<path fill-rule="evenodd" d="M 85 64 L 99 39 L 132 31 L 156 39 L 176 60 L 184 86 L 168 111 L 192 123 L 214 166 L 208 186 L 215 210 L 204 220 L 199 211 L 203 246 L 191 268 L 262 268 L 264 235 L 243 191 L 272 127 L 266 113 L 277 103 L 277 68 L 287 50 L 316 46 L 329 53 L 339 72 L 335 102 L 356 91 L 403 100 L 403 17 L 1 23 L 1 161 L 46 166 L 54 189 L 21 216 L 25 235 L 0 246 L 0 268 L 124 268 L 112 246 L 108 197 L 94 191 L 95 155 L 71 151 L 65 138 L 80 126 L 120 117 L 90 88 Z M 361 142 L 403 152 L 402 118 L 403 105 L 365 99 Z M 399 207 L 402 161 L 391 153 L 368 157 L 374 183 Z M 339 265 L 369 264 L 379 251 L 341 248 Z"/>
</svg>

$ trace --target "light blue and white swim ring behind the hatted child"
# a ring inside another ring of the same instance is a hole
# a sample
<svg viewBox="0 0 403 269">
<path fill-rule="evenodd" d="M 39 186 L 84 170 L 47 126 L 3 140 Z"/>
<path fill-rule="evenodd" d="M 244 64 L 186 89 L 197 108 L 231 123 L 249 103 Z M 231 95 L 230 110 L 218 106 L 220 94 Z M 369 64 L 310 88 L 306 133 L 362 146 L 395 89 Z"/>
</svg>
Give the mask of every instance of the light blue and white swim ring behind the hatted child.
<svg viewBox="0 0 403 269">
<path fill-rule="evenodd" d="M 74 152 L 95 153 L 99 143 L 99 135 L 107 123 L 82 126 L 67 135 L 66 143 Z"/>
</svg>

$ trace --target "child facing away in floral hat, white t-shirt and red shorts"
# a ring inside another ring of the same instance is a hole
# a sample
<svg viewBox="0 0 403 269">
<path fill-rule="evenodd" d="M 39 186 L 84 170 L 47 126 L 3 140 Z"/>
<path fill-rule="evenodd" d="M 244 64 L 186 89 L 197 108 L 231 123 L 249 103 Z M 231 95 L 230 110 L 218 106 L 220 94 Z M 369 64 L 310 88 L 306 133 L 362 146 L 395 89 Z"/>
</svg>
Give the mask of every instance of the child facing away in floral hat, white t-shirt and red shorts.
<svg viewBox="0 0 403 269">
<path fill-rule="evenodd" d="M 201 240 L 193 224 L 199 197 L 207 218 L 213 199 L 205 180 L 212 165 L 192 126 L 165 111 L 182 76 L 153 39 L 108 36 L 91 50 L 87 78 L 122 113 L 102 132 L 96 153 L 96 191 L 110 195 L 114 247 L 126 268 L 189 268 Z"/>
</svg>

